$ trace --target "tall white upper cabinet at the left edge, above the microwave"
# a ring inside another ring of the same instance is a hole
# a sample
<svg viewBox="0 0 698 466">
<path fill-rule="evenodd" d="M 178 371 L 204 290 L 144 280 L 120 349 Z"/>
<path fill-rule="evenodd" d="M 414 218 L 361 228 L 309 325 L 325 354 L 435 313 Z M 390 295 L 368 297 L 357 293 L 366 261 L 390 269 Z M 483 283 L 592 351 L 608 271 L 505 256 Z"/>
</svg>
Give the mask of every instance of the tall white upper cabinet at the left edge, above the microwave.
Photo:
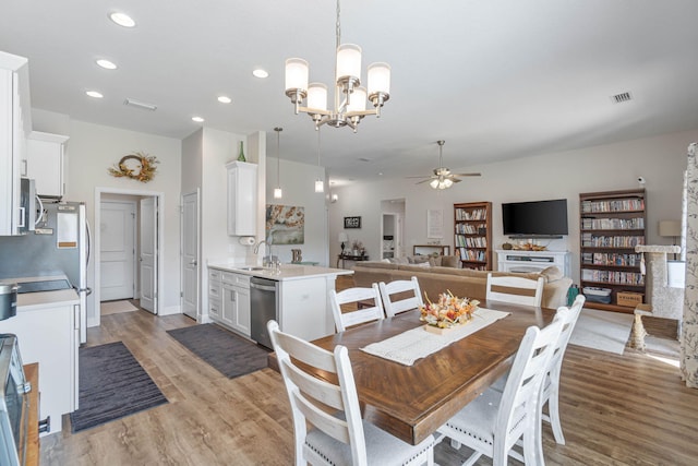
<svg viewBox="0 0 698 466">
<path fill-rule="evenodd" d="M 0 236 L 20 235 L 20 178 L 32 131 L 26 58 L 0 51 Z"/>
</svg>

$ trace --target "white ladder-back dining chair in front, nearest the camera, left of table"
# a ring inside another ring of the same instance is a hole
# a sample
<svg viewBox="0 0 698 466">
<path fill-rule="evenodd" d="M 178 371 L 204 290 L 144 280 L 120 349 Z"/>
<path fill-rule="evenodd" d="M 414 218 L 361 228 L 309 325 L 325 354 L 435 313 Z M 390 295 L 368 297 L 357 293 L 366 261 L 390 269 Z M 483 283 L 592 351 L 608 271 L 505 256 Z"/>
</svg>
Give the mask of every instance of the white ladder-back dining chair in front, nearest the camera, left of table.
<svg viewBox="0 0 698 466">
<path fill-rule="evenodd" d="M 269 321 L 267 328 L 291 404 L 297 466 L 434 464 L 433 435 L 410 445 L 361 418 L 345 346 L 329 353 L 279 331 L 276 321 Z M 306 367 L 333 377 L 316 378 Z"/>
</svg>

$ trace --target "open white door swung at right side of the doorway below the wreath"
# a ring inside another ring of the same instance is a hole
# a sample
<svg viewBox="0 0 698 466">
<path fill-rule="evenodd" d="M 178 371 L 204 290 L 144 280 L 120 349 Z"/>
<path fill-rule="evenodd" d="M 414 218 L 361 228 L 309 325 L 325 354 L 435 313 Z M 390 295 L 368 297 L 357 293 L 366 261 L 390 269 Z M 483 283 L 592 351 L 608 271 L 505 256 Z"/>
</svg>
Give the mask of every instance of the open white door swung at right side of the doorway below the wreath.
<svg viewBox="0 0 698 466">
<path fill-rule="evenodd" d="M 141 200 L 141 308 L 157 314 L 157 198 Z"/>
</svg>

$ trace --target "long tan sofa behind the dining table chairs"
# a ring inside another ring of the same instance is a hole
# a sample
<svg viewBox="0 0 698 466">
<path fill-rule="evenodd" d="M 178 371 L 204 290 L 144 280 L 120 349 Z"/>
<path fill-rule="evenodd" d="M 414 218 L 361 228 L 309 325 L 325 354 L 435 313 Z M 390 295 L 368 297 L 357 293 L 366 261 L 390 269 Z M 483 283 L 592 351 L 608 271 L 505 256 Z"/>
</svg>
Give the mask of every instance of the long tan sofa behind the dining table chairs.
<svg viewBox="0 0 698 466">
<path fill-rule="evenodd" d="M 438 261 L 449 265 L 453 264 L 453 261 L 450 260 L 444 261 L 444 259 L 438 258 L 421 256 L 426 258 L 425 260 L 412 258 L 413 256 L 407 259 L 402 258 L 402 260 L 399 261 L 400 263 L 397 263 L 398 261 L 359 262 L 352 267 L 353 282 L 356 286 L 370 287 L 373 283 L 410 279 L 410 277 L 416 276 L 419 280 L 422 295 L 426 294 L 430 299 L 436 298 L 440 292 L 450 290 L 454 295 L 459 297 L 484 300 L 488 271 L 432 265 Z M 538 279 L 542 276 L 545 284 L 543 285 L 543 299 L 541 306 L 544 308 L 556 309 L 561 306 L 567 304 L 567 290 L 569 289 L 573 280 L 570 277 L 563 276 L 563 273 L 556 266 L 547 267 L 540 273 L 514 274 L 508 272 L 492 272 L 492 274 L 517 275 L 532 279 Z"/>
</svg>

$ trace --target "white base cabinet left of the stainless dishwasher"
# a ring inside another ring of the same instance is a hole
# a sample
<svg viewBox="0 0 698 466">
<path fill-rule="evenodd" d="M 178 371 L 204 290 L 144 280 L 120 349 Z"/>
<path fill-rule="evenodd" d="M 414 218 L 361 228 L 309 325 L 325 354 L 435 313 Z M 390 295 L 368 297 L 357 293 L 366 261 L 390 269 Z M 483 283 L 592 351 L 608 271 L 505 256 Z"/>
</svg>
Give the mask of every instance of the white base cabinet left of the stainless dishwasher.
<svg viewBox="0 0 698 466">
<path fill-rule="evenodd" d="M 250 336 L 250 276 L 208 268 L 208 316 Z"/>
</svg>

